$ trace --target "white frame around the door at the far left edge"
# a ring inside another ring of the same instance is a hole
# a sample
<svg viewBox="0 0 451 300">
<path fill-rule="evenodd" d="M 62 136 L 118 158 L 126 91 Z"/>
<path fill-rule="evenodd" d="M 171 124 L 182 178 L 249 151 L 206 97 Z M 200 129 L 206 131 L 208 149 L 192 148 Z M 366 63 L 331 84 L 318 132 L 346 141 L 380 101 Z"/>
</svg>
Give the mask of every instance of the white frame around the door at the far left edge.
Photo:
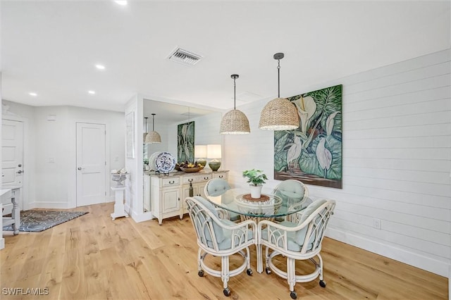
<svg viewBox="0 0 451 300">
<path fill-rule="evenodd" d="M 22 182 L 22 190 L 20 191 L 20 201 L 22 201 L 22 209 L 24 211 L 34 208 L 32 207 L 32 201 L 30 199 L 30 177 L 35 173 L 34 168 L 30 161 L 30 156 L 27 154 L 31 154 L 30 149 L 30 133 L 29 133 L 29 120 L 27 118 L 20 117 L 18 115 L 1 115 L 1 120 L 10 120 L 16 122 L 22 122 L 23 124 L 23 166 L 25 172 L 23 173 L 23 182 Z M 3 183 L 3 182 L 2 182 Z"/>
</svg>

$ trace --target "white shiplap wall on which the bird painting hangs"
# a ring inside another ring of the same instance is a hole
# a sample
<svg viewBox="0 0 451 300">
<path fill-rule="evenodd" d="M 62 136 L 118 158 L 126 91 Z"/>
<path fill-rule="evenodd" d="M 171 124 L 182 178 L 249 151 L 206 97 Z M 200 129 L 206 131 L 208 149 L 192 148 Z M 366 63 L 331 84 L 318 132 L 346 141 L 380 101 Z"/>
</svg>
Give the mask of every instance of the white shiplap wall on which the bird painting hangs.
<svg viewBox="0 0 451 300">
<path fill-rule="evenodd" d="M 327 235 L 443 276 L 451 258 L 450 57 L 447 49 L 297 93 L 343 85 L 343 188 L 308 186 L 337 201 Z M 248 168 L 269 175 L 266 192 L 279 183 L 272 179 L 273 132 L 258 128 L 269 100 L 239 107 L 250 135 L 225 137 L 235 186 L 246 185 L 241 172 Z"/>
</svg>

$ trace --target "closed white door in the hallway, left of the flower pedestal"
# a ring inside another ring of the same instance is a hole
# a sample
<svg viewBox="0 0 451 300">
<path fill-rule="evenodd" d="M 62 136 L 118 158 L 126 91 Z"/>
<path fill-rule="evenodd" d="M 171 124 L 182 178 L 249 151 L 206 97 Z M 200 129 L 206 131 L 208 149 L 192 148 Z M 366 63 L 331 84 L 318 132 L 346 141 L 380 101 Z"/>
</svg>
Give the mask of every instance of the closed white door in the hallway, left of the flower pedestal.
<svg viewBox="0 0 451 300">
<path fill-rule="evenodd" d="M 105 125 L 77 123 L 77 206 L 106 199 Z"/>
</svg>

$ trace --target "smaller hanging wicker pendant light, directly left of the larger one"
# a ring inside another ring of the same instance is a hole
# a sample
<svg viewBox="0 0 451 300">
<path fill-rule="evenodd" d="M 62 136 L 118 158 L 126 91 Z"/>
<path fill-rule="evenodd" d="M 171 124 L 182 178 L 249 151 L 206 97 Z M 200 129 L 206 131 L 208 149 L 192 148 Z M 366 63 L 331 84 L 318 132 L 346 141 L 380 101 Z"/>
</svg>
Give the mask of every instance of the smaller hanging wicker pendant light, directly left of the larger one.
<svg viewBox="0 0 451 300">
<path fill-rule="evenodd" d="M 226 113 L 221 120 L 219 132 L 221 135 L 246 135 L 251 132 L 249 120 L 242 111 L 236 109 L 236 79 L 237 74 L 230 75 L 233 78 L 233 110 Z"/>
</svg>

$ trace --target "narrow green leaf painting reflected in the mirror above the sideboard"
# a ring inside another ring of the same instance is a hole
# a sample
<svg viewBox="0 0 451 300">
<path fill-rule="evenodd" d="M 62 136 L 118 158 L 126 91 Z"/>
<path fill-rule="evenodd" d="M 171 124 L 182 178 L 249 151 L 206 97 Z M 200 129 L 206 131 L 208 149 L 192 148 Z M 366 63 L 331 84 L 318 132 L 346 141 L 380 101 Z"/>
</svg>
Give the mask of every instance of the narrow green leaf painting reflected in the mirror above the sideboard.
<svg viewBox="0 0 451 300">
<path fill-rule="evenodd" d="M 177 126 L 177 161 L 194 163 L 194 121 Z"/>
</svg>

